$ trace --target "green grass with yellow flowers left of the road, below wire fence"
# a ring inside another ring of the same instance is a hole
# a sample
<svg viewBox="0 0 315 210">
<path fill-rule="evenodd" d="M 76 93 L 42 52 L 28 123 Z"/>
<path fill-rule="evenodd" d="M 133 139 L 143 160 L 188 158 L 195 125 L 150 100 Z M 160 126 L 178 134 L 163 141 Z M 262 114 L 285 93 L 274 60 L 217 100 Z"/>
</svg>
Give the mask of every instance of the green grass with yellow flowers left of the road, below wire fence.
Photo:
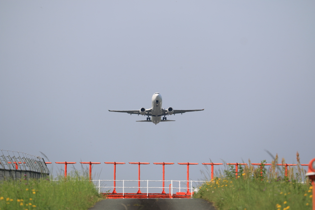
<svg viewBox="0 0 315 210">
<path fill-rule="evenodd" d="M 0 182 L 0 209 L 86 210 L 103 199 L 87 177 L 69 175 L 48 179 L 5 180 Z"/>
</svg>

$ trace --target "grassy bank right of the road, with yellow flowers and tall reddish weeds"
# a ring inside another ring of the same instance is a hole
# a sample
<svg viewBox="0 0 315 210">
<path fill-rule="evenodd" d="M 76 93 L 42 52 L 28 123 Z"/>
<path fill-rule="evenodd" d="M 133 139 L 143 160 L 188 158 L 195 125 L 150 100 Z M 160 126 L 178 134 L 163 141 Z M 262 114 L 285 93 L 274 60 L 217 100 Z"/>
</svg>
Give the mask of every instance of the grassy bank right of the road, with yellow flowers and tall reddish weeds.
<svg viewBox="0 0 315 210">
<path fill-rule="evenodd" d="M 305 171 L 301 167 L 290 168 L 285 176 L 284 168 L 276 166 L 277 159 L 276 156 L 268 170 L 265 166 L 262 170 L 250 164 L 239 166 L 238 177 L 235 168 L 229 166 L 223 175 L 201 185 L 194 197 L 212 202 L 219 210 L 311 210 L 312 186 Z M 300 183 L 301 180 L 305 183 Z"/>
</svg>

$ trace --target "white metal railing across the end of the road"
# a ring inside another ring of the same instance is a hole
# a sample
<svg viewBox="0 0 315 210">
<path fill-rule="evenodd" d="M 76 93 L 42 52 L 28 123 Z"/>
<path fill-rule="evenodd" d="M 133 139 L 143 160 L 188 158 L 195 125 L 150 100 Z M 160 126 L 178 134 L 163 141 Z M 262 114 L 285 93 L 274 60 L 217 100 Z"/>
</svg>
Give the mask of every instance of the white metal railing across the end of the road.
<svg viewBox="0 0 315 210">
<path fill-rule="evenodd" d="M 179 192 L 180 192 L 180 189 L 187 189 L 187 187 L 180 187 L 180 182 L 183 182 L 183 183 L 187 183 L 187 180 L 185 181 L 185 180 L 91 180 L 91 181 L 93 181 L 93 182 L 98 182 L 98 186 L 95 186 L 95 188 L 98 188 L 99 190 L 99 193 L 100 193 L 100 189 L 101 188 L 123 188 L 123 196 L 125 195 L 125 188 L 142 188 L 142 189 L 145 189 L 146 188 L 146 195 L 148 196 L 149 195 L 149 188 L 157 188 L 157 189 L 161 189 L 161 188 L 163 188 L 163 187 L 149 187 L 149 182 L 171 182 L 171 191 L 170 191 L 170 193 L 171 193 L 171 195 L 173 195 L 173 189 L 178 189 L 179 190 Z M 115 182 L 123 182 L 123 186 L 122 187 L 114 187 L 114 186 L 112 186 L 112 187 L 101 187 L 100 186 L 100 183 L 101 182 L 110 182 L 110 181 L 115 181 Z M 146 182 L 146 187 L 125 187 L 125 182 Z M 178 185 L 179 185 L 179 187 L 173 187 L 173 182 L 178 182 Z M 190 192 L 193 192 L 194 191 L 194 189 L 195 188 L 193 188 L 192 187 L 192 183 L 194 182 L 194 183 L 196 183 L 196 182 L 207 182 L 207 181 L 192 181 L 192 180 L 190 180 L 190 181 L 188 181 L 188 182 L 190 182 L 190 188 L 189 188 L 189 190 L 190 190 Z M 169 187 L 164 187 L 164 189 L 168 189 Z M 191 195 L 192 196 L 192 195 Z"/>
</svg>

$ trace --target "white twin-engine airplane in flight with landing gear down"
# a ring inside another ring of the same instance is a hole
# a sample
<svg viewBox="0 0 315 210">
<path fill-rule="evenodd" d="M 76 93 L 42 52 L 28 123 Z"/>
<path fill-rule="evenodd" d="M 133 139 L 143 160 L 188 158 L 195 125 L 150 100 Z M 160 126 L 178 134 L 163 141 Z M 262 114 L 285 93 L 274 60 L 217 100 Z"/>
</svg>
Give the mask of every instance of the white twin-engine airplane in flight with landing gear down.
<svg viewBox="0 0 315 210">
<path fill-rule="evenodd" d="M 170 122 L 175 120 L 167 120 L 166 115 L 172 115 L 172 114 L 183 114 L 185 112 L 196 112 L 196 111 L 202 111 L 204 109 L 190 109 L 190 110 L 174 110 L 172 107 L 169 107 L 167 109 L 162 108 L 162 96 L 159 93 L 154 93 L 152 96 L 152 108 L 145 109 L 140 108 L 140 110 L 108 110 L 110 112 L 125 112 L 128 114 L 141 114 L 147 116 L 146 120 L 139 120 L 136 122 L 152 122 L 155 125 L 159 122 Z M 152 120 L 151 117 L 152 116 Z M 162 120 L 161 117 L 163 116 Z"/>
</svg>

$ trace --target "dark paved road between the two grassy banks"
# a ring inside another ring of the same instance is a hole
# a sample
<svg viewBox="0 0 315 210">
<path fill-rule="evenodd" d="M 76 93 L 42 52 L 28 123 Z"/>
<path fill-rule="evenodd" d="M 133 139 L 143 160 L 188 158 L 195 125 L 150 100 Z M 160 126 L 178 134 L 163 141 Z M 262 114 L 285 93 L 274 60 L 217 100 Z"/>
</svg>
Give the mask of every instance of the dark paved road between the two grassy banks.
<svg viewBox="0 0 315 210">
<path fill-rule="evenodd" d="M 99 201 L 89 210 L 215 210 L 215 208 L 203 199 L 187 198 L 149 198 L 149 199 L 105 199 Z"/>
</svg>

